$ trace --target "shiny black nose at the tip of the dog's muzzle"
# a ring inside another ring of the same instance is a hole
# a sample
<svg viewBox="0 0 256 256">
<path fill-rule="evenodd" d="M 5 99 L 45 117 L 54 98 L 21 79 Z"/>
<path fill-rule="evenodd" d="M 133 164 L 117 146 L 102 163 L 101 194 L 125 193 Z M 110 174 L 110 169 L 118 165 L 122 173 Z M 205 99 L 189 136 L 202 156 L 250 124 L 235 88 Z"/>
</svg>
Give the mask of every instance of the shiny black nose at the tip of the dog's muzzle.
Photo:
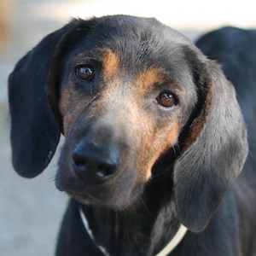
<svg viewBox="0 0 256 256">
<path fill-rule="evenodd" d="M 119 169 L 119 150 L 109 145 L 80 141 L 73 149 L 73 170 L 80 178 L 101 182 L 113 177 Z"/>
</svg>

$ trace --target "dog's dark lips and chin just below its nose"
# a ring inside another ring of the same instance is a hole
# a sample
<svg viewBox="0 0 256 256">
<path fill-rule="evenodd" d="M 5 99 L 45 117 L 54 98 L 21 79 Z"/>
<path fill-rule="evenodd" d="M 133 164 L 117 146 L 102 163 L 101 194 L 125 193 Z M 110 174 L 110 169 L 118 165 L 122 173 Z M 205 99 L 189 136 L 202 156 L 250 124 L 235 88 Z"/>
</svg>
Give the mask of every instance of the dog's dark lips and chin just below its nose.
<svg viewBox="0 0 256 256">
<path fill-rule="evenodd" d="M 57 189 L 66 192 L 81 204 L 108 207 L 118 211 L 131 206 L 144 189 L 144 183 L 136 183 L 131 175 L 132 172 L 126 171 L 124 175 L 104 183 L 88 183 L 84 179 L 71 177 L 71 172 L 67 172 L 64 176 L 59 173 L 55 183 Z"/>
</svg>

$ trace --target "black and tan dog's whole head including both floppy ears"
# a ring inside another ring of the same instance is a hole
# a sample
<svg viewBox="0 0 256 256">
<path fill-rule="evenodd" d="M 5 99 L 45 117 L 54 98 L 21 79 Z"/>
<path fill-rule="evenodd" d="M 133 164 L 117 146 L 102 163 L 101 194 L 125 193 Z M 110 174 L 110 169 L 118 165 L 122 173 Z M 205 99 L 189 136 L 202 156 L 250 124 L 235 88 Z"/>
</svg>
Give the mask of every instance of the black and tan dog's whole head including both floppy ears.
<svg viewBox="0 0 256 256">
<path fill-rule="evenodd" d="M 9 106 L 21 176 L 44 171 L 62 132 L 58 189 L 121 210 L 167 169 L 190 230 L 207 224 L 247 155 L 232 85 L 154 19 L 73 20 L 49 34 L 10 75 Z"/>
</svg>

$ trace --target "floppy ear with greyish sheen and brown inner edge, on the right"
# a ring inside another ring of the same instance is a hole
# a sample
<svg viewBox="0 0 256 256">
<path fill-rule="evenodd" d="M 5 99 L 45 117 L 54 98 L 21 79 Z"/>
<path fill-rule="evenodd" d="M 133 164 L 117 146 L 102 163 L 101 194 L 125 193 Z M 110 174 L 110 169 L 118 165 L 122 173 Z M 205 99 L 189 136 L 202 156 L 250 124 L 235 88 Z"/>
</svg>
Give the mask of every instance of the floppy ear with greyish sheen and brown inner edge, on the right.
<svg viewBox="0 0 256 256">
<path fill-rule="evenodd" d="M 201 110 L 173 177 L 177 215 L 195 232 L 205 228 L 247 157 L 247 131 L 232 84 L 214 61 L 207 60 L 202 73 Z"/>
</svg>

